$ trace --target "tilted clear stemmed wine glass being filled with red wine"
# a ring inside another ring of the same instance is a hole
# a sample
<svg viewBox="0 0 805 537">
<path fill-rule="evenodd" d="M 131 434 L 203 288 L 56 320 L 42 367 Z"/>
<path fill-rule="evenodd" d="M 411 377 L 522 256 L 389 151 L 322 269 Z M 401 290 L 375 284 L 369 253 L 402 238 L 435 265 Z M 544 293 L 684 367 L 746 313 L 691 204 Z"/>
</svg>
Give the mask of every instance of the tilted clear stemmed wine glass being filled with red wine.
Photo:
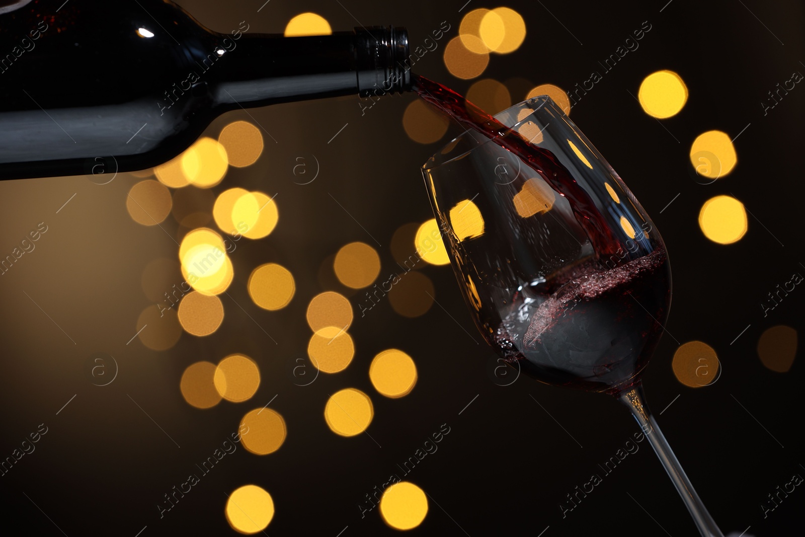
<svg viewBox="0 0 805 537">
<path fill-rule="evenodd" d="M 494 119 L 495 137 L 468 130 L 423 165 L 477 328 L 531 377 L 625 403 L 701 535 L 722 537 L 642 394 L 671 305 L 663 239 L 550 97 Z"/>
</svg>

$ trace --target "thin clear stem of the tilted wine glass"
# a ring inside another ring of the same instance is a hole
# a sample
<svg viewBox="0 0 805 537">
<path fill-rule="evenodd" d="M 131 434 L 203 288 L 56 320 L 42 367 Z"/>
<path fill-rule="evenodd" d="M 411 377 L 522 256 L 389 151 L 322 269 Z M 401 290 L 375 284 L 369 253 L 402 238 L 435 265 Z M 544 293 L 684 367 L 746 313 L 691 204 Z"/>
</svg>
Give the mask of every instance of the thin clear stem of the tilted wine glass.
<svg viewBox="0 0 805 537">
<path fill-rule="evenodd" d="M 649 440 L 654 452 L 657 453 L 659 461 L 663 463 L 665 471 L 674 481 L 674 486 L 682 497 L 687 510 L 690 511 L 696 527 L 699 528 L 701 535 L 704 537 L 724 537 L 724 534 L 716 526 L 716 521 L 712 519 L 704 503 L 702 503 L 699 494 L 696 494 L 696 489 L 691 485 L 691 481 L 687 479 L 682 465 L 676 460 L 671 446 L 668 445 L 663 432 L 659 430 L 654 416 L 651 415 L 649 407 L 646 406 L 646 399 L 643 397 L 642 386 L 635 386 L 631 390 L 621 392 L 619 395 L 621 403 L 624 403 L 629 410 L 632 411 L 634 419 L 638 420 L 638 424 Z"/>
</svg>

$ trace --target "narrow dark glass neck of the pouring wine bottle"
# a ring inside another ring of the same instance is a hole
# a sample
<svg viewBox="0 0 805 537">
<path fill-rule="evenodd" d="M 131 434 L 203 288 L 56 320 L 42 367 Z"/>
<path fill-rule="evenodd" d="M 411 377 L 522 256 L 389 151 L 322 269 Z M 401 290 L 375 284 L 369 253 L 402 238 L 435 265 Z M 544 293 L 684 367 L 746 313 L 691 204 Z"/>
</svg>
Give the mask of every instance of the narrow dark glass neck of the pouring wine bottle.
<svg viewBox="0 0 805 537">
<path fill-rule="evenodd" d="M 242 35 L 219 43 L 208 60 L 215 62 L 210 91 L 217 105 L 237 108 L 411 90 L 403 28 L 357 28 L 304 37 Z"/>
</svg>

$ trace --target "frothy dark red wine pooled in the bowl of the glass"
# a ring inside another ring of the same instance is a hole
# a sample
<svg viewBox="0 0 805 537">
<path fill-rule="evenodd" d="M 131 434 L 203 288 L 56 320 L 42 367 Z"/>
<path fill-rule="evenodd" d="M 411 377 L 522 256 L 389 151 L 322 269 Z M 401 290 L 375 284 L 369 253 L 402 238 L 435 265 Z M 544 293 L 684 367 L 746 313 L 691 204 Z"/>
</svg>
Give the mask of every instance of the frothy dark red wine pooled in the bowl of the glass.
<svg viewBox="0 0 805 537">
<path fill-rule="evenodd" d="M 659 341 L 668 274 L 662 248 L 613 269 L 588 259 L 518 291 L 487 341 L 543 382 L 620 392 Z"/>
</svg>

